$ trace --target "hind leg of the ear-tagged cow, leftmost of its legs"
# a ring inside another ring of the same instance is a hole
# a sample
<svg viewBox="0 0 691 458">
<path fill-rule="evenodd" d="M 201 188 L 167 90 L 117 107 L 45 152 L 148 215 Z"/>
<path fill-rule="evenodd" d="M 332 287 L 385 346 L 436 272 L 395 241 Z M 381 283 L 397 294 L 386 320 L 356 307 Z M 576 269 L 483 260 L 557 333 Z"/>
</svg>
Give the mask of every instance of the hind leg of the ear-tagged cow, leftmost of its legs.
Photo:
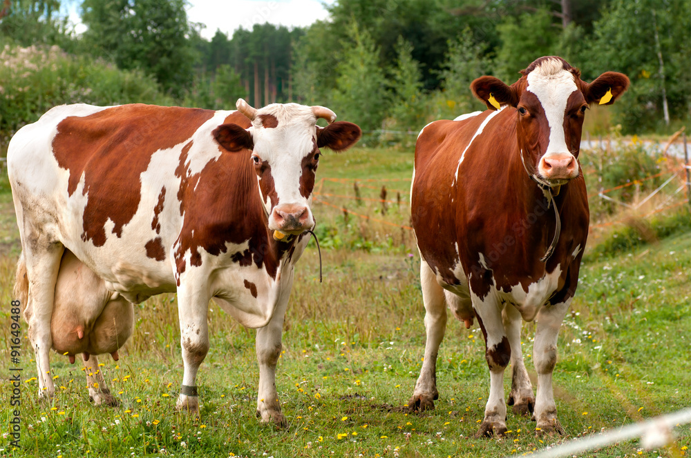
<svg viewBox="0 0 691 458">
<path fill-rule="evenodd" d="M 422 301 L 425 305 L 425 357 L 422 361 L 420 376 L 415 384 L 413 397 L 408 401 L 409 410 L 428 410 L 434 408 L 434 401 L 439 397 L 437 391 L 437 352 L 446 332 L 446 306 L 444 289 L 437 283 L 437 278 L 428 264 L 422 260 L 420 266 L 420 283 L 422 284 Z"/>
</svg>

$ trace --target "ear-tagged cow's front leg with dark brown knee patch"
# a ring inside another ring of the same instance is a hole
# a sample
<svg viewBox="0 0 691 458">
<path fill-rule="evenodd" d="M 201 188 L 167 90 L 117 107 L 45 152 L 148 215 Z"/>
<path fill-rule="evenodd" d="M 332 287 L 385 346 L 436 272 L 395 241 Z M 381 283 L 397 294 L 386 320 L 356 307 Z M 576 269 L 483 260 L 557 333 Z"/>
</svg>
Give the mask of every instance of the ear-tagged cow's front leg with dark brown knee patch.
<svg viewBox="0 0 691 458">
<path fill-rule="evenodd" d="M 484 302 L 473 295 L 475 315 L 484 334 L 485 359 L 489 366 L 489 399 L 484 409 L 484 420 L 475 437 L 507 432 L 507 405 L 504 403 L 504 370 L 511 359 L 511 345 L 502 322 L 502 304 L 492 295 Z"/>
</svg>

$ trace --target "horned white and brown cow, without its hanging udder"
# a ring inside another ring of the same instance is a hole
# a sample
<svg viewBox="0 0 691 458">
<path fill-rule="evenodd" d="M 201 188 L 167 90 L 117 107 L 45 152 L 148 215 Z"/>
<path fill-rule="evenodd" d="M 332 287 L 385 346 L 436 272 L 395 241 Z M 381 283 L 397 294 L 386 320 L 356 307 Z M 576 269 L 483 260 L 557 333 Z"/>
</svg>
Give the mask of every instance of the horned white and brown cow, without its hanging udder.
<svg viewBox="0 0 691 458">
<path fill-rule="evenodd" d="M 177 292 L 180 409 L 198 410 L 209 299 L 258 328 L 258 415 L 285 424 L 275 369 L 294 265 L 314 226 L 319 148 L 345 150 L 361 131 L 319 106 L 237 106 L 59 106 L 12 138 L 8 172 L 41 396 L 55 392 L 50 322 L 68 250 L 131 303 Z M 319 118 L 329 125 L 316 126 Z"/>
</svg>

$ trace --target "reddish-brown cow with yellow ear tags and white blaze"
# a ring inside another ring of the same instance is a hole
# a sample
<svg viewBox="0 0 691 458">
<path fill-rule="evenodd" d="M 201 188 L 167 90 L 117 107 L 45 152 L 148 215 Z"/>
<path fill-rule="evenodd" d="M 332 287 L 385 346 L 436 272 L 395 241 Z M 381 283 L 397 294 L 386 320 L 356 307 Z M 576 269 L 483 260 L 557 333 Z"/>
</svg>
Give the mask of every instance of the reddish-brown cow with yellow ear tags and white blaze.
<svg viewBox="0 0 691 458">
<path fill-rule="evenodd" d="M 534 406 L 538 432 L 563 433 L 552 371 L 588 235 L 578 163 L 583 118 L 591 103 L 614 103 L 629 85 L 615 72 L 585 83 L 560 57 L 541 57 L 521 73 L 511 86 L 494 77 L 476 79 L 473 93 L 489 110 L 435 121 L 420 132 L 410 190 L 426 347 L 408 406 L 434 408 L 446 302 L 467 328 L 477 317 L 485 337 L 490 393 L 478 436 L 507 431 L 503 377 L 509 362 L 509 405 L 522 414 Z M 537 397 L 523 363 L 522 319 L 537 323 Z"/>
</svg>

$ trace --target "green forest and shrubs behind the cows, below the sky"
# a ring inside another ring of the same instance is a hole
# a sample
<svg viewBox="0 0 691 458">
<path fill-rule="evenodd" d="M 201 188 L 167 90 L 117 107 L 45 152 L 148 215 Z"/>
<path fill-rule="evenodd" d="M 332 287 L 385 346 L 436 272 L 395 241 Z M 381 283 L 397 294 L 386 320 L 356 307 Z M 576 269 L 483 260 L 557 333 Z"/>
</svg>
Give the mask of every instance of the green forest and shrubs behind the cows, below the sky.
<svg viewBox="0 0 691 458">
<path fill-rule="evenodd" d="M 369 144 L 410 143 L 429 121 L 483 108 L 476 77 L 513 83 L 550 54 L 585 81 L 607 70 L 632 80 L 593 134 L 669 134 L 691 119 L 688 0 L 338 0 L 308 28 L 255 24 L 211 40 L 184 0 L 83 0 L 81 34 L 68 3 L 3 1 L 1 150 L 59 103 L 233 109 L 238 97 L 328 106 Z"/>
</svg>

